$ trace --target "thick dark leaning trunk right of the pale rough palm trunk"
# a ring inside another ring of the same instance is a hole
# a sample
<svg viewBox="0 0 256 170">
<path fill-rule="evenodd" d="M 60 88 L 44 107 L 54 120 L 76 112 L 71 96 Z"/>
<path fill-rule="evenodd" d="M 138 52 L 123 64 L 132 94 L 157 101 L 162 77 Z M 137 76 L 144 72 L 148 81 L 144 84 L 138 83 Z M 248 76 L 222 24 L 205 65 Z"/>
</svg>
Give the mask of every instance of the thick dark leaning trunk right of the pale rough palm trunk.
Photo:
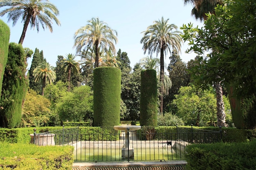
<svg viewBox="0 0 256 170">
<path fill-rule="evenodd" d="M 240 99 L 234 95 L 234 86 L 231 84 L 227 85 L 227 92 L 229 94 L 229 103 L 234 125 L 238 129 L 245 129 L 245 122 L 241 109 Z"/>
</svg>

